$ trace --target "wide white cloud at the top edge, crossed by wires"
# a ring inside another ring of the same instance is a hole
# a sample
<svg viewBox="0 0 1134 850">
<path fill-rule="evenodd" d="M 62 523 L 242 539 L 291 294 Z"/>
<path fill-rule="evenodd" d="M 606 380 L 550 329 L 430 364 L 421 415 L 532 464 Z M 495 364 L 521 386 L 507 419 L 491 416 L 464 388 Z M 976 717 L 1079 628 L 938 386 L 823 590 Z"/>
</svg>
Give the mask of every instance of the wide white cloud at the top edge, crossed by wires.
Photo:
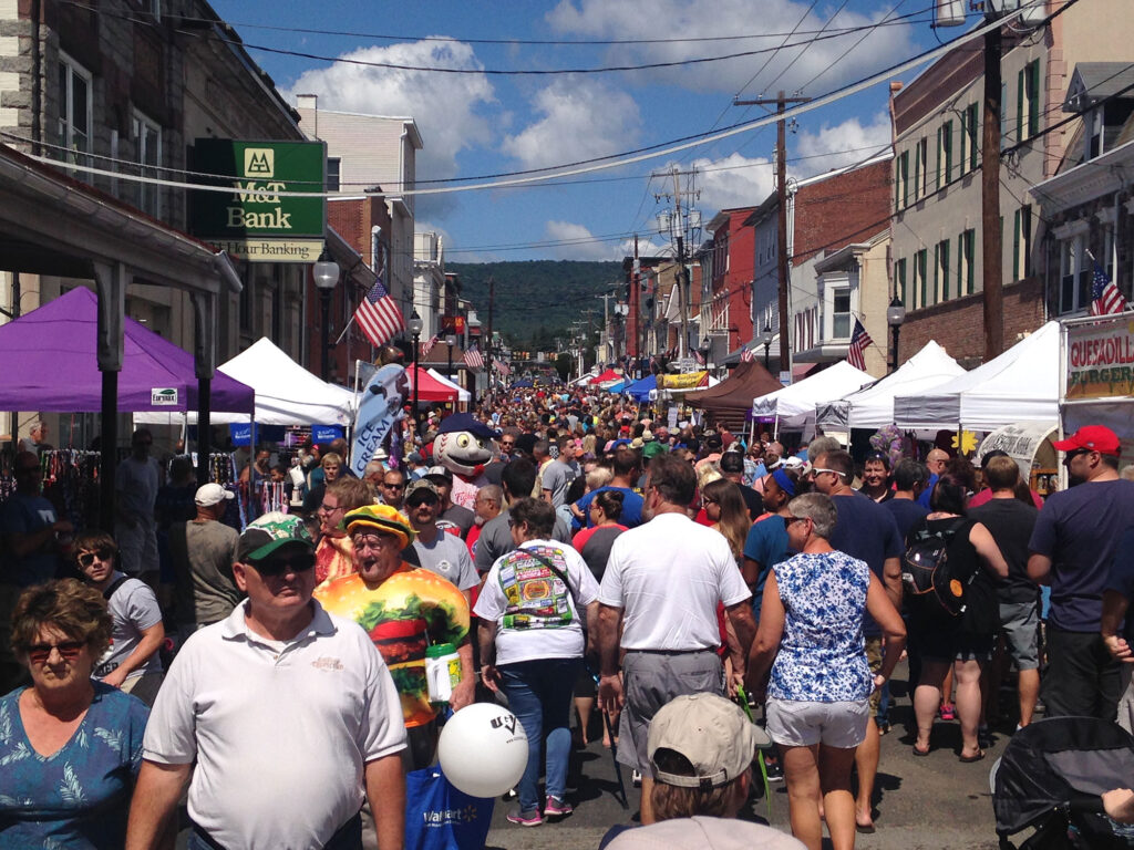
<svg viewBox="0 0 1134 850">
<path fill-rule="evenodd" d="M 869 15 L 839 11 L 827 33 L 857 27 L 880 20 L 890 8 L 888 0 Z M 828 91 L 839 83 L 854 79 L 889 63 L 895 56 L 913 52 L 913 29 L 908 24 L 874 29 L 846 58 L 840 58 L 862 33 L 847 33 L 811 42 L 827 23 L 828 10 L 818 14 L 802 0 L 560 0 L 548 15 L 550 26 L 560 34 L 595 39 L 655 39 L 660 35 L 683 39 L 710 37 L 725 34 L 761 36 L 735 41 L 680 41 L 665 43 L 619 44 L 611 48 L 608 60 L 646 62 L 683 61 L 687 59 L 768 51 L 785 41 L 799 46 L 785 48 L 775 54 L 761 52 L 726 61 L 659 68 L 641 71 L 652 80 L 702 92 L 744 91 L 750 96 L 775 95 L 784 88 L 794 91 L 815 78 L 806 94 Z M 658 22 L 665 22 L 659 28 Z M 785 39 L 798 23 L 798 35 Z M 772 57 L 771 61 L 768 61 Z M 788 63 L 798 57 L 790 68 Z M 768 62 L 767 67 L 764 62 Z M 761 70 L 762 68 L 762 70 Z M 780 71 L 784 71 L 782 76 Z M 755 75 L 755 79 L 753 76 Z M 816 77 L 816 75 L 819 75 Z M 751 80 L 751 84 L 750 84 Z"/>
</svg>

